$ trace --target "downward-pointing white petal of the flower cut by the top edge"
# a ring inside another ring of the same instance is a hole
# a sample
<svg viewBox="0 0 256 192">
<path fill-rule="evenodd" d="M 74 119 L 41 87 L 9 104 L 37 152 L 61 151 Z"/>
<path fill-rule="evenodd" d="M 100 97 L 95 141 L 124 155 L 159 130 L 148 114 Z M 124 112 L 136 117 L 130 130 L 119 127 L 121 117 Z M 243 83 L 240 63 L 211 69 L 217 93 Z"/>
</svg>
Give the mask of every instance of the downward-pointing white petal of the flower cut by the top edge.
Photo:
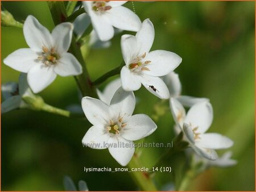
<svg viewBox="0 0 256 192">
<path fill-rule="evenodd" d="M 114 27 L 109 23 L 109 20 L 104 15 L 90 14 L 92 26 L 101 41 L 108 41 L 114 36 Z"/>
</svg>

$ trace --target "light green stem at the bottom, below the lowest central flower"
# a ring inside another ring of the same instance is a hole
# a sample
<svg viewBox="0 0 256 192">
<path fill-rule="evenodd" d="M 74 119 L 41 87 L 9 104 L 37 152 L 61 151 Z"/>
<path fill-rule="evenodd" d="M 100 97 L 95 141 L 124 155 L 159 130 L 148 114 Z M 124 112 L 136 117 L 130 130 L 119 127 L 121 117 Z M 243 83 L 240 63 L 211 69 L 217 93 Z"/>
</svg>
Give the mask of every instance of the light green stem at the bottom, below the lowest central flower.
<svg viewBox="0 0 256 192">
<path fill-rule="evenodd" d="M 138 156 L 136 153 L 134 153 L 133 158 L 131 158 L 131 161 L 127 165 L 129 169 L 131 168 L 142 168 L 143 165 L 138 160 Z M 138 186 L 141 187 L 141 190 L 143 191 L 156 191 L 156 186 L 154 182 L 151 180 L 150 175 L 147 172 L 131 172 L 133 174 L 133 179 L 135 182 L 137 182 Z"/>
</svg>

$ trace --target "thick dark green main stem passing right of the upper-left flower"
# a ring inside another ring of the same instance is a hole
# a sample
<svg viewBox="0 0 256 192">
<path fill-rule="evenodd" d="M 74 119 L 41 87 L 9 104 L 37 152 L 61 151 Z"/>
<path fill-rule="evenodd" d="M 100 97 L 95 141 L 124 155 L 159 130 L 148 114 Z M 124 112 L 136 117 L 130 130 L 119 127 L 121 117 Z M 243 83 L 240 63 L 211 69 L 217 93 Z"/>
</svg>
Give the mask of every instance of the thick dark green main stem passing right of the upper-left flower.
<svg viewBox="0 0 256 192">
<path fill-rule="evenodd" d="M 64 3 L 62 1 L 48 1 L 47 3 L 55 25 L 65 22 L 67 19 L 67 12 Z M 82 95 L 97 97 L 96 89 L 93 87 L 92 82 L 90 81 L 89 73 L 86 69 L 80 47 L 79 45 L 77 45 L 74 36 L 72 37 L 69 52 L 71 52 L 76 57 L 76 59 L 80 62 L 82 66 L 82 74 L 80 74 L 79 76 L 75 76 L 75 80 L 77 82 L 77 85 L 79 86 L 79 89 L 81 90 Z"/>
</svg>

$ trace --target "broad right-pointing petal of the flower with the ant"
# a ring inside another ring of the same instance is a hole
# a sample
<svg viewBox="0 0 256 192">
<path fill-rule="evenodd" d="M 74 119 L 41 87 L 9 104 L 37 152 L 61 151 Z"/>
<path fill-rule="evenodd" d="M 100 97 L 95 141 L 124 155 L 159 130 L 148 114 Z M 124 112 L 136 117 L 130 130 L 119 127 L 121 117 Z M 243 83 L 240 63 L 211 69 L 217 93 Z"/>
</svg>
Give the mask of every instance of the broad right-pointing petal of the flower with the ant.
<svg viewBox="0 0 256 192">
<path fill-rule="evenodd" d="M 149 70 L 144 70 L 143 73 L 150 76 L 165 76 L 181 63 L 181 57 L 176 53 L 163 50 L 151 51 L 146 60 L 151 62 L 147 65 Z"/>
</svg>

